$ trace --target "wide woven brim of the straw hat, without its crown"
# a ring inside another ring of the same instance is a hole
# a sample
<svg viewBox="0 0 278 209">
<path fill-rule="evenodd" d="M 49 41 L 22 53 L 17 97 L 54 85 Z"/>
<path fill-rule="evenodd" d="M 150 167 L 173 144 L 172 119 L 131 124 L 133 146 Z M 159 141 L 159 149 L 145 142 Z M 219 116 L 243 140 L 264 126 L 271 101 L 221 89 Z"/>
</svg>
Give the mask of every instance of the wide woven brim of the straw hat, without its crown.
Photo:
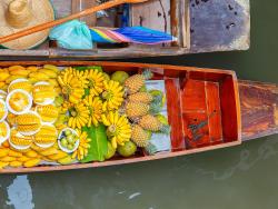
<svg viewBox="0 0 278 209">
<path fill-rule="evenodd" d="M 8 4 L 11 0 L 4 1 L 4 3 Z M 34 27 L 37 24 L 54 20 L 54 10 L 52 3 L 49 0 L 31 0 L 31 11 L 33 14 L 32 20 L 24 28 L 12 28 L 11 26 L 9 26 L 4 17 L 4 11 L 7 10 L 7 6 L 4 3 L 0 3 L 0 37 L 12 34 L 14 32 Z M 44 30 L 33 34 L 29 34 L 20 39 L 2 43 L 2 47 L 17 50 L 31 49 L 42 43 L 48 38 L 49 31 L 50 30 Z"/>
</svg>

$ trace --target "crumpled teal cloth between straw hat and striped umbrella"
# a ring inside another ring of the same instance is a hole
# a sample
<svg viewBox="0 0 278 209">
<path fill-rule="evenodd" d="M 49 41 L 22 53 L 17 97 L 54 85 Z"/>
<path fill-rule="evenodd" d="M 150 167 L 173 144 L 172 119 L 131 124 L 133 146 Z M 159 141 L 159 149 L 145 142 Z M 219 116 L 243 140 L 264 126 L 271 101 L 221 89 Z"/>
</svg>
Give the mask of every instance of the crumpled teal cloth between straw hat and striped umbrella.
<svg viewBox="0 0 278 209">
<path fill-rule="evenodd" d="M 92 49 L 91 32 L 85 22 L 72 20 L 54 27 L 49 34 L 64 49 Z"/>
</svg>

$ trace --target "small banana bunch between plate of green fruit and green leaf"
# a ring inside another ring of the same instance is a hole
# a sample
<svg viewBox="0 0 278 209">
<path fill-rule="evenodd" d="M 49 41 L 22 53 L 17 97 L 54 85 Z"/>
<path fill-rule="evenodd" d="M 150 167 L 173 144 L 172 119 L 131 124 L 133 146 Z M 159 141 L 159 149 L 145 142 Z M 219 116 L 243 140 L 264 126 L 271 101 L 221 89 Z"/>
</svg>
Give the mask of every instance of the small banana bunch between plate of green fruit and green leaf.
<svg viewBox="0 0 278 209">
<path fill-rule="evenodd" d="M 90 148 L 91 139 L 88 138 L 87 132 L 82 132 L 79 137 L 79 147 L 72 153 L 72 159 L 78 159 L 79 161 L 82 160 L 86 156 L 88 156 L 88 149 Z"/>
</svg>

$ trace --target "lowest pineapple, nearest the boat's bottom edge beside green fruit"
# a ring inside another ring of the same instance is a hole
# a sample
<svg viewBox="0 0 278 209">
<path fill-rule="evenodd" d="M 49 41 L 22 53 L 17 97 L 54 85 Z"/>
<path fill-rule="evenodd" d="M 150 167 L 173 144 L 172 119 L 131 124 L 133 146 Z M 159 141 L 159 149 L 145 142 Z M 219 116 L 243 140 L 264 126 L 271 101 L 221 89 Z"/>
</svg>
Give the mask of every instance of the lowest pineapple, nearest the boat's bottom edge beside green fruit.
<svg viewBox="0 0 278 209">
<path fill-rule="evenodd" d="M 137 147 L 140 147 L 140 148 L 148 147 L 150 137 L 151 137 L 151 132 L 150 131 L 143 130 L 138 125 L 135 125 L 132 127 L 131 141 L 133 141 Z"/>
</svg>

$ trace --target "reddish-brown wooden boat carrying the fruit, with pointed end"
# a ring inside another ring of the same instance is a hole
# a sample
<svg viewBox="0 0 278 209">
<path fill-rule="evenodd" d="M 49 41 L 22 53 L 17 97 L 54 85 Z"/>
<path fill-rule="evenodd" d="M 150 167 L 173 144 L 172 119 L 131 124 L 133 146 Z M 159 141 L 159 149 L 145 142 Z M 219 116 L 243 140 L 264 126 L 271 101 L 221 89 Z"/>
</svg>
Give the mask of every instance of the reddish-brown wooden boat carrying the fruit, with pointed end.
<svg viewBox="0 0 278 209">
<path fill-rule="evenodd" d="M 141 162 L 238 146 L 242 141 L 278 132 L 278 86 L 237 80 L 234 71 L 147 63 L 92 61 L 3 61 L 14 64 L 101 66 L 105 71 L 138 72 L 150 69 L 165 80 L 171 150 L 155 156 L 138 152 L 131 158 L 69 166 L 12 168 L 1 173 L 54 171 Z"/>
</svg>

